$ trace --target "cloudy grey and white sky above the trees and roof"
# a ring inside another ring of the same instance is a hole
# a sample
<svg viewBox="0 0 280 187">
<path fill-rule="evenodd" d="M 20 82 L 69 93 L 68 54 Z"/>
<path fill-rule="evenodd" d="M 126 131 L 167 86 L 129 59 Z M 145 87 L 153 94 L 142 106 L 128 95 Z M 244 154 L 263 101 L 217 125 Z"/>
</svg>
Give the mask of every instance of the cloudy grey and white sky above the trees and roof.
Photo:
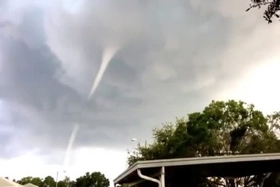
<svg viewBox="0 0 280 187">
<path fill-rule="evenodd" d="M 0 176 L 112 181 L 127 149 L 213 99 L 279 111 L 280 23 L 249 3 L 1 1 Z"/>
</svg>

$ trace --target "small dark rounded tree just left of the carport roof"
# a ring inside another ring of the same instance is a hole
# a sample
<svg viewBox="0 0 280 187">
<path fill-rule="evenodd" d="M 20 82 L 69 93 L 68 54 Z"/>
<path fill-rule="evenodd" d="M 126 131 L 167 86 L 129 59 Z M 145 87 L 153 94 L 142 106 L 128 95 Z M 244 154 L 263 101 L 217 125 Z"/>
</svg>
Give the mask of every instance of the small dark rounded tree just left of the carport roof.
<svg viewBox="0 0 280 187">
<path fill-rule="evenodd" d="M 100 172 L 87 172 L 86 175 L 76 179 L 76 187 L 108 187 L 109 179 Z"/>
</svg>

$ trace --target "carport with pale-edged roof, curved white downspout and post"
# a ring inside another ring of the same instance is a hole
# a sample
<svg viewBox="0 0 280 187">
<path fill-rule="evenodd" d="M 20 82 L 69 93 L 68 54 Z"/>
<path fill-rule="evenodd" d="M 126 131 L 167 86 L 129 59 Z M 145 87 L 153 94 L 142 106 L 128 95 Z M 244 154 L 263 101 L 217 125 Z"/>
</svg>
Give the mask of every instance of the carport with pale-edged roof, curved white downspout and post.
<svg viewBox="0 0 280 187">
<path fill-rule="evenodd" d="M 147 160 L 131 165 L 114 184 L 181 186 L 184 181 L 199 177 L 244 177 L 271 172 L 280 172 L 280 153 Z M 177 182 L 171 184 L 170 178 Z"/>
</svg>

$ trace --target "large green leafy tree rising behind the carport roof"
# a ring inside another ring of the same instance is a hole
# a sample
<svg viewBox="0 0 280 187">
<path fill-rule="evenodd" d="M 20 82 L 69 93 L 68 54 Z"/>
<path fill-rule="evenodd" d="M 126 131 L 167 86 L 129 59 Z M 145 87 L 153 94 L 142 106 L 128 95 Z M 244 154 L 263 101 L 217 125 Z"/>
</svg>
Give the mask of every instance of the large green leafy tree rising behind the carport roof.
<svg viewBox="0 0 280 187">
<path fill-rule="evenodd" d="M 153 143 L 147 147 L 138 144 L 128 157 L 128 164 L 137 160 L 280 152 L 279 125 L 279 112 L 264 116 L 242 101 L 212 101 L 202 112 L 189 114 L 187 120 L 177 119 L 154 129 Z M 211 178 L 199 182 L 202 186 L 225 181 L 231 186 L 256 186 L 263 177 Z"/>
</svg>

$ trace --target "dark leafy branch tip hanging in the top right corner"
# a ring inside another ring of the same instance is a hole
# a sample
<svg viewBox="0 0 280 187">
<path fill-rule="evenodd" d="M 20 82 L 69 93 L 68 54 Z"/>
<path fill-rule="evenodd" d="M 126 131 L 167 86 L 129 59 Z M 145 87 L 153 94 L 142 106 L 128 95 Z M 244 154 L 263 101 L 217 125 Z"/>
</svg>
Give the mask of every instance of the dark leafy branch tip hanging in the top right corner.
<svg viewBox="0 0 280 187">
<path fill-rule="evenodd" d="M 251 8 L 265 7 L 264 18 L 270 24 L 272 23 L 272 18 L 280 17 L 280 0 L 251 0 L 250 7 L 246 10 L 249 11 Z"/>
</svg>

